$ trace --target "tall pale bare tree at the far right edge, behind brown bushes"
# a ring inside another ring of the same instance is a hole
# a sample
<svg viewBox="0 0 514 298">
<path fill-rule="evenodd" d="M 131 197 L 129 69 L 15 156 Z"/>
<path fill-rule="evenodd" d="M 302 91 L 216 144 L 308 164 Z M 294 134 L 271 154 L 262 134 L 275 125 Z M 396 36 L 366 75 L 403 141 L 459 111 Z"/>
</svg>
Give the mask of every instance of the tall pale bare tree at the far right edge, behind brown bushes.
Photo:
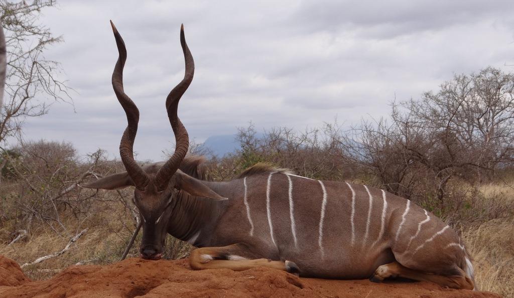
<svg viewBox="0 0 514 298">
<path fill-rule="evenodd" d="M 512 161 L 514 148 L 514 75 L 488 67 L 455 76 L 437 93 L 403 103 L 412 118 L 430 123 L 450 160 L 467 166 L 463 176 L 481 183 L 498 166 Z"/>
</svg>

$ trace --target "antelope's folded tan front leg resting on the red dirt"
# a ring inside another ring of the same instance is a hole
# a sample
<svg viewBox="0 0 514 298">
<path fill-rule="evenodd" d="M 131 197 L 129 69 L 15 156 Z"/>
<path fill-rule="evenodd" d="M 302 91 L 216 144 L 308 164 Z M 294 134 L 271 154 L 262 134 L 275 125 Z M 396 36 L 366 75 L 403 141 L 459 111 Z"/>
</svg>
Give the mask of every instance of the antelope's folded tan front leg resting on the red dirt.
<svg viewBox="0 0 514 298">
<path fill-rule="evenodd" d="M 243 246 L 233 244 L 224 247 L 204 247 L 195 249 L 189 257 L 189 264 L 194 270 L 232 269 L 243 271 L 259 266 L 298 273 L 298 267 L 290 261 L 269 260 L 265 258 L 250 259 Z"/>
</svg>

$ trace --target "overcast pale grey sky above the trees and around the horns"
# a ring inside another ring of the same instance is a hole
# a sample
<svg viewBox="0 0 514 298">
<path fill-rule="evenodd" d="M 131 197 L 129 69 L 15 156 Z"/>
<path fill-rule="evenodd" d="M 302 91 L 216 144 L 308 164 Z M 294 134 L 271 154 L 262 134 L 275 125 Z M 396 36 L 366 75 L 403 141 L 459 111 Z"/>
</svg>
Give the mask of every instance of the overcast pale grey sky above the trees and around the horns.
<svg viewBox="0 0 514 298">
<path fill-rule="evenodd" d="M 69 141 L 81 154 L 118 157 L 126 119 L 111 75 L 118 53 L 109 20 L 127 46 L 126 93 L 141 117 L 138 159 L 160 160 L 174 140 L 164 102 L 183 77 L 180 24 L 195 77 L 179 105 L 190 138 L 258 129 L 303 130 L 324 121 L 379 118 L 388 103 L 419 98 L 454 73 L 513 71 L 514 9 L 508 1 L 74 1 L 43 11 L 64 43 L 74 107 L 59 103 L 28 119 L 25 139 Z"/>
</svg>

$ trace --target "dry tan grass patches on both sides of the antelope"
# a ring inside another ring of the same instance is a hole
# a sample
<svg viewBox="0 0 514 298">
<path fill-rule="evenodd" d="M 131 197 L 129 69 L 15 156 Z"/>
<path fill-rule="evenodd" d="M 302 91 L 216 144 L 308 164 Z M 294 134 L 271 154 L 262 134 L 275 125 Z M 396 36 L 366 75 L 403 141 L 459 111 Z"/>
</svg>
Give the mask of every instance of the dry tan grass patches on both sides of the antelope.
<svg viewBox="0 0 514 298">
<path fill-rule="evenodd" d="M 485 208 L 505 209 L 514 202 L 514 190 L 505 185 L 487 184 L 482 189 Z M 102 202 L 106 206 L 100 209 L 123 209 L 116 202 Z M 32 280 L 42 280 L 57 274 L 60 270 L 78 262 L 85 264 L 108 264 L 119 260 L 128 239 L 131 236 L 133 222 L 130 215 L 118 218 L 112 212 L 100 212 L 89 215 L 88 219 L 79 221 L 72 216 L 63 218 L 70 234 L 77 230 L 89 228 L 72 248 L 65 254 L 48 259 L 38 265 L 24 268 Z M 123 212 L 118 212 L 123 214 Z M 5 237 L 10 226 L 15 222 L 6 222 L 0 228 L 0 254 L 14 259 L 19 264 L 48 255 L 64 248 L 69 237 L 60 236 L 47 226 L 39 226 L 31 231 L 30 237 L 8 247 Z M 80 228 L 77 228 L 79 227 Z M 1 230 L 4 230 L 2 232 Z M 514 217 L 497 218 L 480 222 L 472 226 L 461 227 L 462 236 L 468 251 L 474 258 L 475 280 L 481 290 L 501 293 L 507 298 L 514 298 Z M 71 235 L 71 236 L 73 236 Z M 141 234 L 139 235 L 140 239 Z M 128 256 L 137 256 L 136 240 Z M 168 237 L 167 258 L 181 258 L 189 255 L 191 246 L 182 241 Z M 48 271 L 50 270 L 50 271 Z"/>
</svg>

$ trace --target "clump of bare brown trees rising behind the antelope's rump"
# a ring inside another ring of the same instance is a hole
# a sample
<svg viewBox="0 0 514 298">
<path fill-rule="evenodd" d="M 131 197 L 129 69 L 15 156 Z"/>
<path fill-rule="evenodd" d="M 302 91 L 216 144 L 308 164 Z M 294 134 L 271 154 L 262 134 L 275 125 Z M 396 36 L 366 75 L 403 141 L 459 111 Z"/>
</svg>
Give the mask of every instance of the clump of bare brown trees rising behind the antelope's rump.
<svg viewBox="0 0 514 298">
<path fill-rule="evenodd" d="M 344 156 L 376 184 L 443 213 L 460 210 L 512 165 L 514 75 L 492 67 L 456 75 L 419 100 L 393 103 L 388 121 L 363 121 L 350 133 Z M 471 190 L 452 183 L 463 180 Z"/>
</svg>

